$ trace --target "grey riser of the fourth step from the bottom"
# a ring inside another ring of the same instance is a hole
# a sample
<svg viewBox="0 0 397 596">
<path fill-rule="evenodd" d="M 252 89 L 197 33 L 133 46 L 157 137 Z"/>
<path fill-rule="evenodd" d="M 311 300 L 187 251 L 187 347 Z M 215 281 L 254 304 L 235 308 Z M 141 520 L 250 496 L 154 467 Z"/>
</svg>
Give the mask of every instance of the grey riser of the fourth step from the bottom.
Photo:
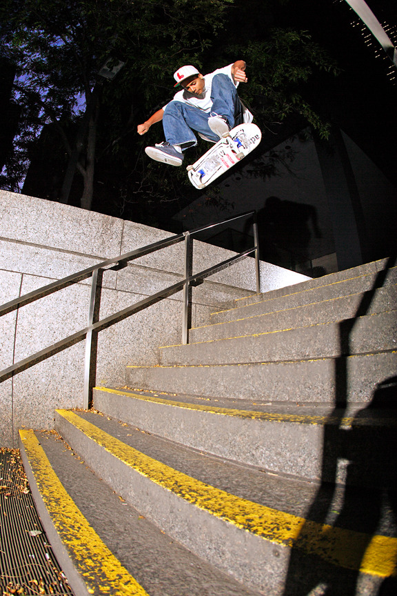
<svg viewBox="0 0 397 596">
<path fill-rule="evenodd" d="M 215 398 L 344 405 L 369 403 L 396 370 L 393 351 L 256 364 L 128 366 L 126 384 Z"/>
</svg>

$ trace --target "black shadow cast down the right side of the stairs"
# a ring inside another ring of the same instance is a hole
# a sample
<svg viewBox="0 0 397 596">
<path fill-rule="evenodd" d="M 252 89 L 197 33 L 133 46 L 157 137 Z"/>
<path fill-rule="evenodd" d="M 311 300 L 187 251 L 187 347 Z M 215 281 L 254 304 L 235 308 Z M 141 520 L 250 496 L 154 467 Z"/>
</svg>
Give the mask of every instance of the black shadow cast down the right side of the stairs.
<svg viewBox="0 0 397 596">
<path fill-rule="evenodd" d="M 385 553 L 384 549 L 379 557 L 385 560 L 374 560 L 380 550 L 372 544 L 376 535 L 390 535 L 390 528 L 397 526 L 397 377 L 378 383 L 369 404 L 347 417 L 352 405 L 352 332 L 358 317 L 371 314 L 376 291 L 395 265 L 396 258 L 387 259 L 371 290 L 364 293 L 356 315 L 340 322 L 335 401 L 324 428 L 320 485 L 291 550 L 283 596 L 397 594 L 397 550 Z M 380 367 L 378 375 L 384 374 Z M 313 522 L 320 536 L 314 536 Z M 338 562 L 326 554 L 336 540 L 335 527 L 347 530 L 336 549 Z M 318 549 L 317 555 L 307 555 L 313 541 L 323 544 L 324 556 Z M 374 568 L 376 573 L 371 573 Z"/>
</svg>

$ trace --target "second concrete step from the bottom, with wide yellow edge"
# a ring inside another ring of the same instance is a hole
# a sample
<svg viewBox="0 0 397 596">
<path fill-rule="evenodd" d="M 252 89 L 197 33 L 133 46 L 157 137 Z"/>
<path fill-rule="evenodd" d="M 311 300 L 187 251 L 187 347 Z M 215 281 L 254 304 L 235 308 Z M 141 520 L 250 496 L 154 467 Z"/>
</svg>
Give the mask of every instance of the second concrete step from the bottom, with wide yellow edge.
<svg viewBox="0 0 397 596">
<path fill-rule="evenodd" d="M 363 593 L 375 594 L 391 574 L 396 528 L 382 506 L 373 535 L 363 489 L 272 477 L 95 413 L 58 410 L 56 425 L 84 463 L 171 541 L 262 594 L 284 593 L 290 555 L 332 577 L 335 593 L 358 577 L 371 590 Z"/>
</svg>

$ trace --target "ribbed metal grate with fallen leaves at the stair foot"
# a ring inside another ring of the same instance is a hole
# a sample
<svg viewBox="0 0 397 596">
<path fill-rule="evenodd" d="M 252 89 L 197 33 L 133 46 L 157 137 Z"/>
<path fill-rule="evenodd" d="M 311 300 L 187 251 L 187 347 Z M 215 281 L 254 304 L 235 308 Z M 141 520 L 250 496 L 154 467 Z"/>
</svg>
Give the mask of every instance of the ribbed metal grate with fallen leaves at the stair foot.
<svg viewBox="0 0 397 596">
<path fill-rule="evenodd" d="M 0 595 L 73 594 L 30 493 L 18 449 L 0 449 Z"/>
</svg>

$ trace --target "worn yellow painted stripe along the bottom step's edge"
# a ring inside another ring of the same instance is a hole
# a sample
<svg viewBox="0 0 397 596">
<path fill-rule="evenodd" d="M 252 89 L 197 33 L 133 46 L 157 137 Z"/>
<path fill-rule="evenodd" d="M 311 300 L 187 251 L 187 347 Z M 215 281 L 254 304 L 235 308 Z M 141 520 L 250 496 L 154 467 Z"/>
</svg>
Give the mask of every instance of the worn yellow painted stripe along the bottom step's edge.
<svg viewBox="0 0 397 596">
<path fill-rule="evenodd" d="M 77 566 L 88 593 L 148 596 L 90 526 L 45 455 L 32 430 L 19 430 L 28 461 L 52 524 Z"/>
</svg>

